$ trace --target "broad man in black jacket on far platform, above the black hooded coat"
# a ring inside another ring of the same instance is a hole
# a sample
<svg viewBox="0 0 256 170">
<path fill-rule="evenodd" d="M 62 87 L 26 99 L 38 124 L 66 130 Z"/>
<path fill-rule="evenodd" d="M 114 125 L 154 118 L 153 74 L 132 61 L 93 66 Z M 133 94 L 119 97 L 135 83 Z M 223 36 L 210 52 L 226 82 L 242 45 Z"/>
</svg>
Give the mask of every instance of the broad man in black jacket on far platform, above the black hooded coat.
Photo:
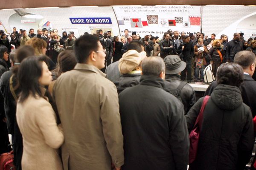
<svg viewBox="0 0 256 170">
<path fill-rule="evenodd" d="M 236 53 L 242 50 L 243 50 L 243 42 L 240 41 L 240 34 L 235 33 L 233 40 L 227 43 L 226 58 L 229 59 L 230 62 L 233 62 Z"/>
</svg>

